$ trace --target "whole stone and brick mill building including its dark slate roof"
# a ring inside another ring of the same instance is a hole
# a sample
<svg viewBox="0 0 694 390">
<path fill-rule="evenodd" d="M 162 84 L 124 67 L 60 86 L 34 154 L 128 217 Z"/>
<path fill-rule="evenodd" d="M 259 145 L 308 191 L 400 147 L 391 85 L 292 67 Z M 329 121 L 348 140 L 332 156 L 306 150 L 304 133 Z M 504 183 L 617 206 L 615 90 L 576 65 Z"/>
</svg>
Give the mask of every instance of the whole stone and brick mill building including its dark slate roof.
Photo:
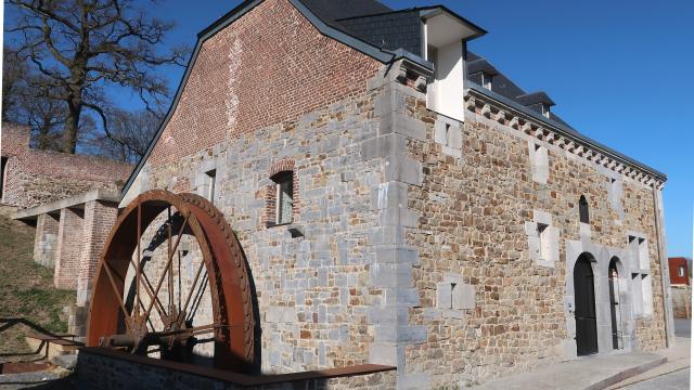
<svg viewBox="0 0 694 390">
<path fill-rule="evenodd" d="M 165 188 L 223 212 L 264 373 L 437 388 L 672 343 L 665 174 L 468 52 L 484 34 L 372 0 L 244 1 L 198 34 L 120 207 Z"/>
</svg>

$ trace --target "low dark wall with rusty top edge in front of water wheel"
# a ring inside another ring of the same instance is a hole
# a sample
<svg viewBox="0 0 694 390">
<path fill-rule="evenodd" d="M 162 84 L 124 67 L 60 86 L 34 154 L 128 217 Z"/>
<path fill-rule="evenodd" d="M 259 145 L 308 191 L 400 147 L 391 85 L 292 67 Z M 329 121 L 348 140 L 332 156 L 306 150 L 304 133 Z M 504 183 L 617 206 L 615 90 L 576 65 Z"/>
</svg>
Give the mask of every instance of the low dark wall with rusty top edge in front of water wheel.
<svg viewBox="0 0 694 390">
<path fill-rule="evenodd" d="M 77 360 L 78 389 L 385 390 L 395 387 L 395 367 L 373 364 L 320 372 L 249 376 L 102 348 L 83 348 Z"/>
</svg>

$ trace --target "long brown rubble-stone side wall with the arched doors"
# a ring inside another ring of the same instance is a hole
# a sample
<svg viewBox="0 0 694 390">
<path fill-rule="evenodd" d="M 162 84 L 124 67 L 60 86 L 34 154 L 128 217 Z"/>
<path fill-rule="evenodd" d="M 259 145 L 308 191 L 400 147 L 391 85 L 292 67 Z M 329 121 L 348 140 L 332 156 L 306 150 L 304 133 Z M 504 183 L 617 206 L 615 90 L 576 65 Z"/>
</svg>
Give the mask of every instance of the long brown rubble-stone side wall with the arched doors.
<svg viewBox="0 0 694 390">
<path fill-rule="evenodd" d="M 575 356 L 571 273 L 583 250 L 599 259 L 593 269 L 600 352 L 611 351 L 607 268 L 618 257 L 628 306 L 635 294 L 631 271 L 643 257 L 630 249 L 634 234 L 646 242 L 643 272 L 652 275 L 653 313 L 631 318 L 624 313 L 630 321 L 624 338 L 641 350 L 665 347 L 653 188 L 479 112 L 468 113 L 463 125 L 427 110 L 425 102 L 413 96 L 407 113 L 427 130 L 424 140 L 407 145 L 407 155 L 422 164 L 424 173 L 422 185 L 407 188 L 408 206 L 420 216 L 416 226 L 406 232 L 406 242 L 420 253 L 413 277 L 421 304 L 409 311 L 409 318 L 426 326 L 425 341 L 406 349 L 407 370 L 446 385 Z M 450 136 L 437 136 L 441 128 L 462 132 L 455 148 Z M 538 148 L 528 143 L 547 148 L 541 167 L 534 166 Z M 619 202 L 611 196 L 615 180 L 620 183 Z M 581 195 L 589 202 L 589 224 L 579 222 Z M 528 224 L 555 230 L 549 255 L 534 247 Z M 475 303 L 454 315 L 440 304 L 441 288 L 450 294 L 460 284 L 474 288 Z"/>
</svg>

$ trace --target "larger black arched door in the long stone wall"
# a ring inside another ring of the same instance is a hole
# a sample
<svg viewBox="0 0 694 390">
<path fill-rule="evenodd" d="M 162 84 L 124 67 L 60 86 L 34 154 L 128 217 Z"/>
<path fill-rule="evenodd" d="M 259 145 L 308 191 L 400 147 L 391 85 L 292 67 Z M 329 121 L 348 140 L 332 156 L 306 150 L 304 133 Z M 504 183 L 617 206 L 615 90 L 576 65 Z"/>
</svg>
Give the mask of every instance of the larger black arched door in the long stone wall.
<svg viewBox="0 0 694 390">
<path fill-rule="evenodd" d="M 594 258 L 583 252 L 574 265 L 574 300 L 576 303 L 576 351 L 579 356 L 597 353 L 595 324 L 595 288 L 591 262 Z"/>
</svg>

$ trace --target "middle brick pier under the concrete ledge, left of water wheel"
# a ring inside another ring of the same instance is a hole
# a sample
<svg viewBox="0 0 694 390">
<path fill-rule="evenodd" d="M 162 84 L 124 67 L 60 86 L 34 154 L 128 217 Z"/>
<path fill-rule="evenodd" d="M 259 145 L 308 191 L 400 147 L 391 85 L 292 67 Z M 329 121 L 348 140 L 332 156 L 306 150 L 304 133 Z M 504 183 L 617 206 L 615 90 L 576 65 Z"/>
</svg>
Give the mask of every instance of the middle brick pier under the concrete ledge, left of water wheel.
<svg viewBox="0 0 694 390">
<path fill-rule="evenodd" d="M 53 273 L 53 283 L 56 288 L 77 289 L 83 219 L 85 212 L 81 209 L 61 209 L 57 229 L 57 257 Z"/>
</svg>

